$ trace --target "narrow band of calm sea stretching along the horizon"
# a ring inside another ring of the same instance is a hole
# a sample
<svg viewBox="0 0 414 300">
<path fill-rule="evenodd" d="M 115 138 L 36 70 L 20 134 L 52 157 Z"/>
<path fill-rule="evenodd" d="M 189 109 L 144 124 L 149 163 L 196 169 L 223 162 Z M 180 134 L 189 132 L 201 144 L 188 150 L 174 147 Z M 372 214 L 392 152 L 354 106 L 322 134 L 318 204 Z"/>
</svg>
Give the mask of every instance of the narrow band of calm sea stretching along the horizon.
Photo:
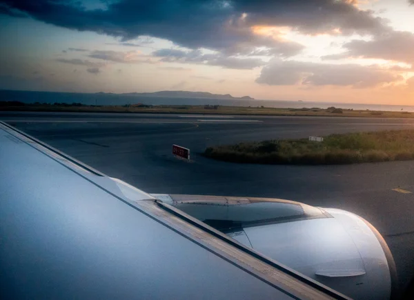
<svg viewBox="0 0 414 300">
<path fill-rule="evenodd" d="M 179 97 L 150 97 L 130 94 L 75 93 L 75 92 L 33 92 L 21 90 L 0 90 L 0 101 L 21 101 L 23 103 L 82 103 L 85 105 L 110 106 L 126 104 L 148 105 L 219 105 L 251 106 L 266 108 L 335 108 L 353 110 L 382 110 L 391 112 L 414 112 L 414 106 L 385 104 L 338 103 L 315 101 L 208 99 Z"/>
</svg>

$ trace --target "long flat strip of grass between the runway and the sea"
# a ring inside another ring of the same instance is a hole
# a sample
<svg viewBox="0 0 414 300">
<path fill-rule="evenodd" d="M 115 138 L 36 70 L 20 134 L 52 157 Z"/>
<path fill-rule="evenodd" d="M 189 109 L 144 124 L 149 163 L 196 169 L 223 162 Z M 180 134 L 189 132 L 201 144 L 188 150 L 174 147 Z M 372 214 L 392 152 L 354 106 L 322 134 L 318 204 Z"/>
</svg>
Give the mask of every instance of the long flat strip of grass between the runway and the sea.
<svg viewBox="0 0 414 300">
<path fill-rule="evenodd" d="M 313 117 L 379 117 L 413 118 L 411 112 L 381 112 L 372 110 L 345 110 L 341 108 L 264 108 L 242 106 L 148 106 L 133 104 L 125 106 L 86 106 L 81 103 L 21 103 L 0 101 L 0 111 L 26 112 L 130 112 L 170 114 L 240 114 L 267 116 L 313 116 Z"/>
</svg>

